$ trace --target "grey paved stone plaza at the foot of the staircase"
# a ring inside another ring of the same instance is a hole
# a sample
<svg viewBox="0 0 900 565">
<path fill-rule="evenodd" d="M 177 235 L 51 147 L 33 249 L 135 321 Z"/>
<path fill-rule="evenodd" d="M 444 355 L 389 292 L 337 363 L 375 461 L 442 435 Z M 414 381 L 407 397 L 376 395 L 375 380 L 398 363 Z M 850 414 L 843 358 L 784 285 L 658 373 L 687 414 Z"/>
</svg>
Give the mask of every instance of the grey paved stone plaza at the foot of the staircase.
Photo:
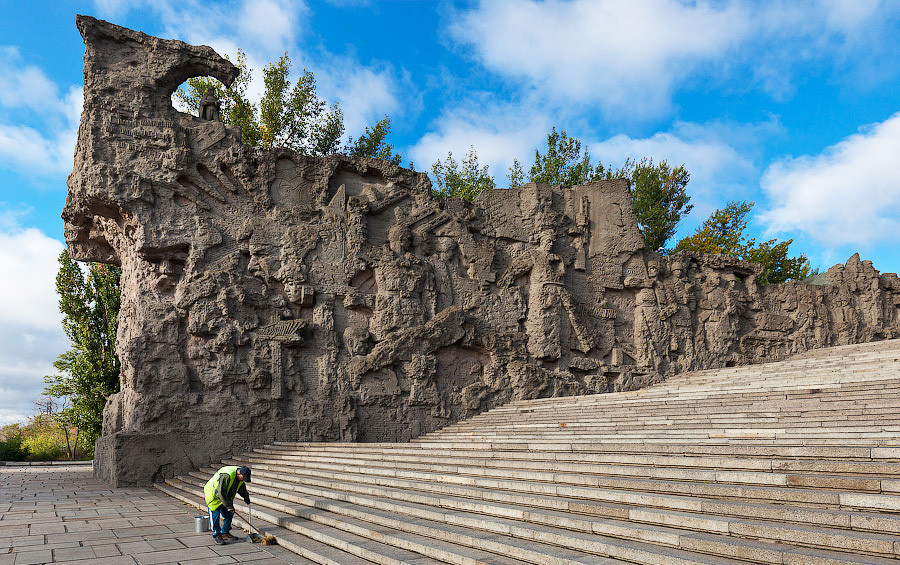
<svg viewBox="0 0 900 565">
<path fill-rule="evenodd" d="M 0 466 L 0 565 L 308 563 L 278 546 L 218 546 L 194 532 L 204 513 L 153 488 L 111 489 L 89 465 Z"/>
</svg>

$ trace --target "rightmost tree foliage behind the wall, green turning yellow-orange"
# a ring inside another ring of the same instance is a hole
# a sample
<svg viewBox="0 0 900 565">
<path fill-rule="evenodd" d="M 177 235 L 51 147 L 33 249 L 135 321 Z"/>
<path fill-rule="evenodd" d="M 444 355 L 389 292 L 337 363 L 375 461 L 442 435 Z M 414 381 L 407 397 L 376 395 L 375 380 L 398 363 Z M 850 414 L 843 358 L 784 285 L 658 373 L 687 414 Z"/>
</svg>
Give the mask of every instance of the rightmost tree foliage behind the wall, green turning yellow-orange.
<svg viewBox="0 0 900 565">
<path fill-rule="evenodd" d="M 788 256 L 793 239 L 780 242 L 770 239 L 757 244 L 754 238 L 747 238 L 744 230 L 747 215 L 753 206 L 753 202 L 732 200 L 724 208 L 713 212 L 693 235 L 679 241 L 675 251 L 725 253 L 760 263 L 763 272 L 756 278 L 760 284 L 800 280 L 809 276 L 810 265 L 806 255 Z"/>
</svg>

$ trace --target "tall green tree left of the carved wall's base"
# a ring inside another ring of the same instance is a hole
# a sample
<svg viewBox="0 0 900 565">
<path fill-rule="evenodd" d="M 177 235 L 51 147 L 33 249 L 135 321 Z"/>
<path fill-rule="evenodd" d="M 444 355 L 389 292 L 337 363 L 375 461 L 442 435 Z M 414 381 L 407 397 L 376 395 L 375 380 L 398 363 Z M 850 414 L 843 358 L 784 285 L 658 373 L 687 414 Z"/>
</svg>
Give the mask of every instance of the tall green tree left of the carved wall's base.
<svg viewBox="0 0 900 565">
<path fill-rule="evenodd" d="M 115 352 L 121 269 L 91 263 L 87 277 L 67 251 L 59 256 L 56 275 L 63 331 L 72 347 L 53 363 L 57 375 L 44 378 L 44 394 L 66 398 L 59 421 L 77 427 L 87 451 L 93 450 L 103 424 L 107 397 L 119 390 Z"/>
</svg>

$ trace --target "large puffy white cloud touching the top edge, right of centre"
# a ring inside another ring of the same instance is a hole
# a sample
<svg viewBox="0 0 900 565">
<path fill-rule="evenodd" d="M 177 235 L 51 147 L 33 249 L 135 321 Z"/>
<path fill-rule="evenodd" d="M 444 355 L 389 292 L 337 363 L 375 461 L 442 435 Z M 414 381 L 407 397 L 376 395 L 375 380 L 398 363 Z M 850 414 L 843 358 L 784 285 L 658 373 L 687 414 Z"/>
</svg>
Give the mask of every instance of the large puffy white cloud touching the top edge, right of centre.
<svg viewBox="0 0 900 565">
<path fill-rule="evenodd" d="M 669 0 L 498 0 L 451 28 L 481 61 L 539 90 L 654 114 L 673 84 L 749 33 L 739 5 Z"/>
</svg>

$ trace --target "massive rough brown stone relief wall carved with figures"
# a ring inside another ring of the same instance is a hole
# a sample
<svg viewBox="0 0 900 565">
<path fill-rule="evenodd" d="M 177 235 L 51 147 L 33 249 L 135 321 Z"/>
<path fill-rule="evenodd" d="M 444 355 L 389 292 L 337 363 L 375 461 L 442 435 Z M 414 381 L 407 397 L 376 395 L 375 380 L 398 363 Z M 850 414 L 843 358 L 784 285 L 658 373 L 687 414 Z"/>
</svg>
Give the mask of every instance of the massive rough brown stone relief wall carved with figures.
<svg viewBox="0 0 900 565">
<path fill-rule="evenodd" d="M 470 204 L 387 162 L 247 147 L 172 107 L 189 77 L 234 79 L 212 49 L 78 27 L 63 219 L 75 258 L 122 266 L 122 390 L 95 465 L 114 485 L 254 443 L 402 441 L 511 399 L 900 336 L 900 281 L 858 256 L 758 288 L 757 265 L 647 251 L 624 180 Z"/>
</svg>

